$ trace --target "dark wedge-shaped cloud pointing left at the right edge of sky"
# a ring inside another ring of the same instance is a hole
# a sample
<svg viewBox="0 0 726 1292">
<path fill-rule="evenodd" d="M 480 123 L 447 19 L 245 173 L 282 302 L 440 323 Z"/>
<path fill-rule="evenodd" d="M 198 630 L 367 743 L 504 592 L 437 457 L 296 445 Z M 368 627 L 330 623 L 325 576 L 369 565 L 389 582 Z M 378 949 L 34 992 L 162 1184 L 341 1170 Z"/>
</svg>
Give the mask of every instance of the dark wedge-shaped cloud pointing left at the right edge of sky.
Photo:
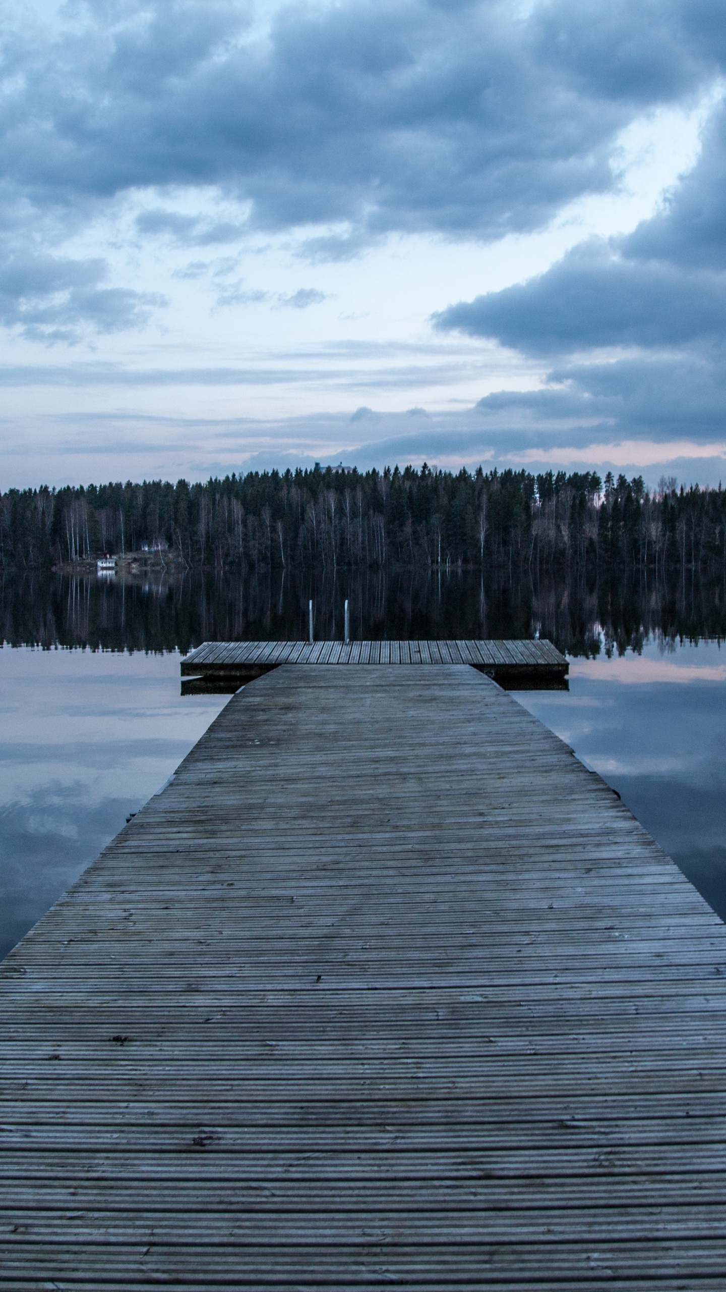
<svg viewBox="0 0 726 1292">
<path fill-rule="evenodd" d="M 633 234 L 575 247 L 527 283 L 450 306 L 435 326 L 496 337 L 530 354 L 682 346 L 722 336 L 726 109 L 709 121 L 694 171 Z"/>
</svg>

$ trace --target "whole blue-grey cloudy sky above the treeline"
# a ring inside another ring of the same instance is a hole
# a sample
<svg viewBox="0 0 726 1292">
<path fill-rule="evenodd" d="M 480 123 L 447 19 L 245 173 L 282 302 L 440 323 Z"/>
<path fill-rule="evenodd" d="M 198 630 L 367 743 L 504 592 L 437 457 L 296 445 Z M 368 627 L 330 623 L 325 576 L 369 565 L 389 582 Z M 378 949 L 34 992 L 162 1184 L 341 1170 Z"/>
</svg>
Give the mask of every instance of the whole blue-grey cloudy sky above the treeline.
<svg viewBox="0 0 726 1292">
<path fill-rule="evenodd" d="M 722 0 L 13 0 L 0 487 L 726 481 Z"/>
</svg>

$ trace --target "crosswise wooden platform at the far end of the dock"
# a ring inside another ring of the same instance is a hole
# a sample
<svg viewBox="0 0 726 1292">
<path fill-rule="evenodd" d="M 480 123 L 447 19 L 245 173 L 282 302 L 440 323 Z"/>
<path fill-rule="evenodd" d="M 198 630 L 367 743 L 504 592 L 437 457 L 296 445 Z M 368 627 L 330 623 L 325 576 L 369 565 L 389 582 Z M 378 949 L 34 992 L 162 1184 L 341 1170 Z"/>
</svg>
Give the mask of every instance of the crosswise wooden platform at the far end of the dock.
<svg viewBox="0 0 726 1292">
<path fill-rule="evenodd" d="M 508 691 L 567 690 L 570 664 L 532 641 L 203 642 L 182 660 L 182 691 L 231 694 L 280 664 L 468 664 Z"/>
</svg>

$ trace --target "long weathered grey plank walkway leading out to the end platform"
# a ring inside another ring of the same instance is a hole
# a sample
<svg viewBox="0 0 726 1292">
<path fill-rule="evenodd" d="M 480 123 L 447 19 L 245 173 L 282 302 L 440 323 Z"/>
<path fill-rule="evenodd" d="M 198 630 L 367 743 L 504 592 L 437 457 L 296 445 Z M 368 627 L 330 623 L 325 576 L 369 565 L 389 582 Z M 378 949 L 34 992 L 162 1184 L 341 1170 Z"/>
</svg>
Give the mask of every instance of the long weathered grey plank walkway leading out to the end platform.
<svg viewBox="0 0 726 1292">
<path fill-rule="evenodd" d="M 723 1292 L 725 1023 L 513 698 L 284 665 L 3 963 L 0 1292 Z"/>
</svg>

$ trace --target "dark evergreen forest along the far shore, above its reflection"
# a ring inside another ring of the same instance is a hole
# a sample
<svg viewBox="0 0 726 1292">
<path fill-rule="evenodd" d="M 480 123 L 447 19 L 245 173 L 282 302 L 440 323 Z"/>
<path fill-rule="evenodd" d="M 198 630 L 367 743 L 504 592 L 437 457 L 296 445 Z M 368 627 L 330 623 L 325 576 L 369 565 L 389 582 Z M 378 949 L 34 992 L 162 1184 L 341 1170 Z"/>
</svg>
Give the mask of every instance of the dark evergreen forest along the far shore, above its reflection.
<svg viewBox="0 0 726 1292">
<path fill-rule="evenodd" d="M 726 490 L 482 468 L 227 475 L 0 494 L 0 565 L 47 570 L 142 547 L 189 567 L 492 568 L 726 575 Z"/>
</svg>

